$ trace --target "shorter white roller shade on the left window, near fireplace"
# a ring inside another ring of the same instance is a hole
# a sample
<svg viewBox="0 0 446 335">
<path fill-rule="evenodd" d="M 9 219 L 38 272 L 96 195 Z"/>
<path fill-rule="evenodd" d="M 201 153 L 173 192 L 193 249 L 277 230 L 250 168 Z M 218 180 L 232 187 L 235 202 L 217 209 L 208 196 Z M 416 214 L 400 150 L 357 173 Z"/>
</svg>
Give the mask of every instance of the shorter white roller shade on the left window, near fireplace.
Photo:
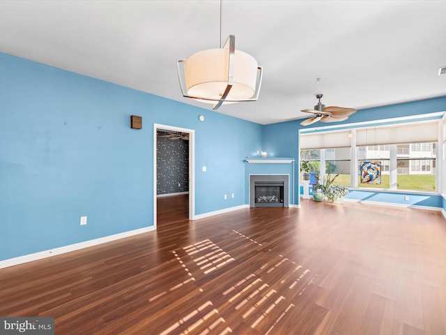
<svg viewBox="0 0 446 335">
<path fill-rule="evenodd" d="M 300 149 L 343 148 L 351 146 L 348 129 L 300 134 Z"/>
</svg>

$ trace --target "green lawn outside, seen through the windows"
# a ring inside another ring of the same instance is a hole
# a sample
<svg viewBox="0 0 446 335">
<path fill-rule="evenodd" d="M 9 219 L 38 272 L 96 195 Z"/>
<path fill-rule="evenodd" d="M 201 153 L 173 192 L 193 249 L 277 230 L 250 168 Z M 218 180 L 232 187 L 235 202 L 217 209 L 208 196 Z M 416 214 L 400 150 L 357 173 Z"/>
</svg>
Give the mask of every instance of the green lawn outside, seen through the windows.
<svg viewBox="0 0 446 335">
<path fill-rule="evenodd" d="M 301 179 L 302 180 L 302 179 Z M 359 182 L 359 176 L 358 176 Z M 350 174 L 339 174 L 334 180 L 335 185 L 350 186 Z M 383 174 L 381 177 L 381 184 L 359 184 L 364 188 L 390 188 L 389 175 Z M 398 176 L 399 190 L 412 190 L 412 191 L 435 191 L 435 175 L 433 174 L 400 174 Z"/>
</svg>

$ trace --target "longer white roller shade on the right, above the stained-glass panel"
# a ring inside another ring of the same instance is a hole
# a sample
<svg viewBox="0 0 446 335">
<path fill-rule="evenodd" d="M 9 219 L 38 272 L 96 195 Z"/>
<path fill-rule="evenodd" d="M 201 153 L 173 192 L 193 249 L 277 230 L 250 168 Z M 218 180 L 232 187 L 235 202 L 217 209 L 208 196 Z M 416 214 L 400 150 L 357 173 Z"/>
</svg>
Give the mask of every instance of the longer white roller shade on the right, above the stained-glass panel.
<svg viewBox="0 0 446 335">
<path fill-rule="evenodd" d="M 356 130 L 356 145 L 436 142 L 438 121 L 395 124 Z"/>
</svg>

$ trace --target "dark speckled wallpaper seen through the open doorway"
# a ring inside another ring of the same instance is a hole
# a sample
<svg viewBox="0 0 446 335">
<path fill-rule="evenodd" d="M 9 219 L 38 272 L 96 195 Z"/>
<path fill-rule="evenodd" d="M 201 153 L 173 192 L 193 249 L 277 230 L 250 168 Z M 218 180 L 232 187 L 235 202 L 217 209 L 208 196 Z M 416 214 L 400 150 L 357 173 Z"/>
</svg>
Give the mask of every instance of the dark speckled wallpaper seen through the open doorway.
<svg viewBox="0 0 446 335">
<path fill-rule="evenodd" d="M 189 141 L 157 131 L 157 195 L 189 191 Z"/>
</svg>

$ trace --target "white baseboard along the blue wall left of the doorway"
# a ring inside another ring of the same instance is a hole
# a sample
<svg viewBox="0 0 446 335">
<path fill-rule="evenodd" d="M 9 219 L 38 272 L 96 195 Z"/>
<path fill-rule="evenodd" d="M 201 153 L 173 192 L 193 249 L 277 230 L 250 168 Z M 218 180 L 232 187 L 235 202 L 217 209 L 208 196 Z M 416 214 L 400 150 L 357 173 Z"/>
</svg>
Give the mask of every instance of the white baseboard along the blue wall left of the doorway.
<svg viewBox="0 0 446 335">
<path fill-rule="evenodd" d="M 116 239 L 123 239 L 125 237 L 130 237 L 137 234 L 143 234 L 144 232 L 151 232 L 153 230 L 155 230 L 155 227 L 152 225 L 150 227 L 139 228 L 135 230 L 130 230 L 128 232 L 121 232 L 119 234 L 100 237 L 98 239 L 91 239 L 89 241 L 70 244 L 68 246 L 61 246 L 59 248 L 48 249 L 45 251 L 40 251 L 38 253 L 30 253 L 29 255 L 10 258 L 8 260 L 1 260 L 0 269 L 3 269 L 5 267 L 12 267 L 13 265 L 19 265 L 26 262 L 31 262 L 33 260 L 42 260 L 43 258 L 48 258 L 55 255 L 61 255 L 62 253 L 70 253 L 71 251 L 77 251 L 79 249 L 89 248 L 90 246 L 97 246 L 98 244 L 103 244 L 110 241 L 116 241 Z"/>
</svg>

